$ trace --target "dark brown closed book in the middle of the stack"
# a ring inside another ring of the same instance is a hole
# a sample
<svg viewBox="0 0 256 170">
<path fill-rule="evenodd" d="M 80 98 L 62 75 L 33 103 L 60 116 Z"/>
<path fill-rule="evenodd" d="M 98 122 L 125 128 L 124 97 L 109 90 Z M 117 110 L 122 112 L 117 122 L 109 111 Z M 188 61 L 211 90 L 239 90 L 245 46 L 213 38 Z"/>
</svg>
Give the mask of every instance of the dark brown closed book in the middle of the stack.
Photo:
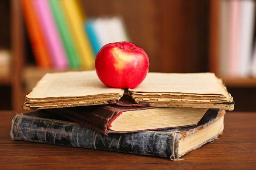
<svg viewBox="0 0 256 170">
<path fill-rule="evenodd" d="M 207 109 L 95 105 L 47 111 L 108 134 L 197 125 Z"/>
</svg>

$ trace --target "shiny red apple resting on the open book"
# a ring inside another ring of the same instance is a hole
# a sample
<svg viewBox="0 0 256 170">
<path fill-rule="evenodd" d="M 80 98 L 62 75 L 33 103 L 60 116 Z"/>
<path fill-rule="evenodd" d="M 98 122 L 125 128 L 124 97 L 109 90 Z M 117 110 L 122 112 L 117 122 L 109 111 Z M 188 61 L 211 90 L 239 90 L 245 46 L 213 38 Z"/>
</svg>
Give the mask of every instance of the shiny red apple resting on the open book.
<svg viewBox="0 0 256 170">
<path fill-rule="evenodd" d="M 103 46 L 95 60 L 99 79 L 112 88 L 135 88 L 148 74 L 146 52 L 131 42 L 116 42 Z"/>
</svg>

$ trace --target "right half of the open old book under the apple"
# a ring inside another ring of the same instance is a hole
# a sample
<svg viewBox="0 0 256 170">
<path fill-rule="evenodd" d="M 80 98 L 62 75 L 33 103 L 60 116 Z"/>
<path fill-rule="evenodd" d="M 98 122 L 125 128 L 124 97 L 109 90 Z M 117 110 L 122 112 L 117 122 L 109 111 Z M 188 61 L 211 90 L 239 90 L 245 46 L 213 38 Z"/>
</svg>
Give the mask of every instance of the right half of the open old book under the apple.
<svg viewBox="0 0 256 170">
<path fill-rule="evenodd" d="M 234 109 L 233 97 L 214 73 L 150 73 L 129 92 L 135 102 L 152 107 Z"/>
</svg>

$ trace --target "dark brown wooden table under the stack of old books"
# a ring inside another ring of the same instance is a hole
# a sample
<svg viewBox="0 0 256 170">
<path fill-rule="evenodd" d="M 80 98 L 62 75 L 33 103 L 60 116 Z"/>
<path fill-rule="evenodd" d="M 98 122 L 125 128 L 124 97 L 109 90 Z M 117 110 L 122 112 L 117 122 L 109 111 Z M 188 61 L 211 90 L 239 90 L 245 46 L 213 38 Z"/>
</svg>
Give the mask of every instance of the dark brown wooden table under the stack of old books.
<svg viewBox="0 0 256 170">
<path fill-rule="evenodd" d="M 10 138 L 15 113 L 0 112 L 0 169 L 256 169 L 256 113 L 228 112 L 224 134 L 183 161 Z"/>
</svg>

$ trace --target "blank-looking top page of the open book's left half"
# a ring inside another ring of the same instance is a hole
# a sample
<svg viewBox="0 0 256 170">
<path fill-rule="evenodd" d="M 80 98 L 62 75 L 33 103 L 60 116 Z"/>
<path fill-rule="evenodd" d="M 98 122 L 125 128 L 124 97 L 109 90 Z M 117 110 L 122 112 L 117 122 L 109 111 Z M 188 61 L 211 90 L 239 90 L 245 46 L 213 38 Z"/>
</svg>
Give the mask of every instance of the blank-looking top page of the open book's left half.
<svg viewBox="0 0 256 170">
<path fill-rule="evenodd" d="M 95 71 L 74 71 L 46 74 L 26 97 L 42 99 L 54 97 L 81 97 L 95 95 L 122 95 L 121 88 L 104 85 Z"/>
</svg>

